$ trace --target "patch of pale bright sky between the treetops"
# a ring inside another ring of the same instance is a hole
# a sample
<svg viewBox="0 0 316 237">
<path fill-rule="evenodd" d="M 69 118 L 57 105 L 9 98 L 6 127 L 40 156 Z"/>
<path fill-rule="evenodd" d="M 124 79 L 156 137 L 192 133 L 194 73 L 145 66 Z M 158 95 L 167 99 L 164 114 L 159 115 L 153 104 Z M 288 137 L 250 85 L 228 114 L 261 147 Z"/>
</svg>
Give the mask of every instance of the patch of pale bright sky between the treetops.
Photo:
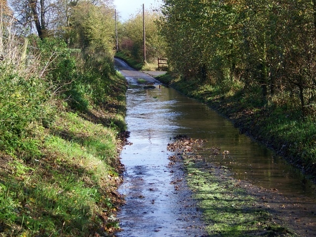
<svg viewBox="0 0 316 237">
<path fill-rule="evenodd" d="M 113 0 L 117 10 L 119 19 L 126 21 L 131 15 L 136 15 L 143 11 L 143 4 L 145 9 L 150 10 L 153 7 L 157 8 L 162 5 L 162 0 Z"/>
</svg>

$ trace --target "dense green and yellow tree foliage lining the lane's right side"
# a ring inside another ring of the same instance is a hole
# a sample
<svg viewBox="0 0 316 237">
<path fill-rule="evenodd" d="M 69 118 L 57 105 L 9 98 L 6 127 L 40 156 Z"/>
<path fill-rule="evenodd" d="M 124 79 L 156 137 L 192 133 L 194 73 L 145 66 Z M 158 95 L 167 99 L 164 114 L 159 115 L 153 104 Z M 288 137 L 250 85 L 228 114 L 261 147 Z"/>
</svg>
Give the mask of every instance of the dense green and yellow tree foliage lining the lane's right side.
<svg viewBox="0 0 316 237">
<path fill-rule="evenodd" d="M 315 0 L 164 0 L 169 64 L 184 79 L 294 98 L 304 115 L 316 93 Z"/>
</svg>

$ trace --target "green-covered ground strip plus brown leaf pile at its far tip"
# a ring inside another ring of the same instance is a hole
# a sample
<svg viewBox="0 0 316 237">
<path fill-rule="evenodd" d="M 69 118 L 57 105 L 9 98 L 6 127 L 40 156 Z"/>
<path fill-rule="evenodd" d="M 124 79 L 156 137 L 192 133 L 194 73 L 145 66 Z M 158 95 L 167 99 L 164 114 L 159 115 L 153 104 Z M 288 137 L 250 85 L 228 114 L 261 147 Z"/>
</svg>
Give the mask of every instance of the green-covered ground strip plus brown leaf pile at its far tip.
<svg viewBox="0 0 316 237">
<path fill-rule="evenodd" d="M 183 162 L 187 183 L 203 212 L 206 231 L 210 236 L 295 236 L 274 223 L 266 208 L 258 204 L 244 183 L 230 176 L 226 167 L 214 166 L 198 155 L 202 140 L 177 136 L 168 144 L 173 151 L 169 159 Z"/>
</svg>

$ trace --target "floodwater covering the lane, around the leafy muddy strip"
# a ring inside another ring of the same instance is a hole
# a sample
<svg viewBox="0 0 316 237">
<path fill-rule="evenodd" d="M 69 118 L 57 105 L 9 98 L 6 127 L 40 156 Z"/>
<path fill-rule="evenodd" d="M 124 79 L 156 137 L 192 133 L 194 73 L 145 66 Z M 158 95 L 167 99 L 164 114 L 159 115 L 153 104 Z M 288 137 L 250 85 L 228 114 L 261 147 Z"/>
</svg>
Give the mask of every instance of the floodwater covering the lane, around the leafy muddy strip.
<svg viewBox="0 0 316 237">
<path fill-rule="evenodd" d="M 175 189 L 175 183 L 185 186 L 182 171 L 172 172 L 168 168 L 166 147 L 178 134 L 205 139 L 207 147 L 229 151 L 225 157 L 214 155 L 211 150 L 203 155 L 209 162 L 228 166 L 237 179 L 277 190 L 302 208 L 307 204 L 309 220 L 316 223 L 315 212 L 310 211 L 316 211 L 315 186 L 300 172 L 240 134 L 229 120 L 206 105 L 159 85 L 157 80 L 119 60 L 116 65 L 130 84 L 126 122 L 131 143 L 121 153 L 125 172 L 118 192 L 125 196 L 126 205 L 118 213 L 123 229 L 118 237 L 203 236 L 199 228 L 203 226 L 201 213 L 190 191 Z M 155 88 L 145 89 L 139 79 L 154 83 Z"/>
</svg>

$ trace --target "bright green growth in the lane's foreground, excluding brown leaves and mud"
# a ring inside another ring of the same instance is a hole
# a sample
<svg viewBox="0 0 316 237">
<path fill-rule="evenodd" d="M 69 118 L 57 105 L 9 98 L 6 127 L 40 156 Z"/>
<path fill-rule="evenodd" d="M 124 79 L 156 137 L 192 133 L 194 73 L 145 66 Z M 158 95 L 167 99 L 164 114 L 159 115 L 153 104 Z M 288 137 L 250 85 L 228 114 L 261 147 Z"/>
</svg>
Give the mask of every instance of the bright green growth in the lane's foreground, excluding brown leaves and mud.
<svg viewBox="0 0 316 237">
<path fill-rule="evenodd" d="M 211 236 L 269 236 L 265 230 L 270 222 L 269 213 L 255 207 L 256 199 L 237 188 L 237 182 L 225 176 L 225 170 L 218 177 L 194 162 L 187 162 L 186 169 L 190 174 L 188 184 L 194 190 Z"/>
</svg>

